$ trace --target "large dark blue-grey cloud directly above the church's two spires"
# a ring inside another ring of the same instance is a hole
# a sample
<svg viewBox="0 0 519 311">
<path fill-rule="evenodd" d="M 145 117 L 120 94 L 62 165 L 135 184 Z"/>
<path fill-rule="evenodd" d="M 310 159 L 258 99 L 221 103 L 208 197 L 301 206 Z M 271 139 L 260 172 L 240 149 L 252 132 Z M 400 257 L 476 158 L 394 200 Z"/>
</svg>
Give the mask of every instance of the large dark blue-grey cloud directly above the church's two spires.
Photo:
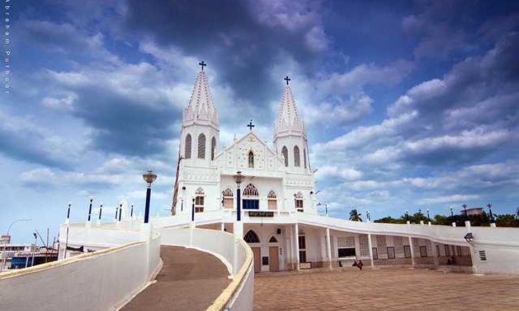
<svg viewBox="0 0 519 311">
<path fill-rule="evenodd" d="M 240 104 L 266 106 L 279 95 L 268 91 L 276 89 L 272 67 L 293 57 L 305 62 L 310 71 L 325 41 L 318 5 L 307 1 L 268 3 L 155 1 L 151 6 L 129 1 L 126 31 L 197 55 L 208 62 L 208 70 L 217 71 L 219 83 L 235 91 Z M 275 83 L 281 85 L 282 76 Z"/>
</svg>

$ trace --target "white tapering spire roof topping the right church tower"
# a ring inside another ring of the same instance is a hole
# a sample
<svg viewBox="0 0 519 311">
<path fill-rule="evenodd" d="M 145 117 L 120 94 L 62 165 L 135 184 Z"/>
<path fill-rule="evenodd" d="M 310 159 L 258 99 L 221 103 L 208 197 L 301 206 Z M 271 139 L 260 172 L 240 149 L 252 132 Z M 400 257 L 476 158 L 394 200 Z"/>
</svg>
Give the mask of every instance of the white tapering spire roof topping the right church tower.
<svg viewBox="0 0 519 311">
<path fill-rule="evenodd" d="M 301 133 L 304 131 L 304 122 L 299 116 L 298 107 L 295 105 L 292 90 L 290 86 L 286 85 L 281 97 L 280 111 L 277 113 L 277 120 L 275 123 L 275 134 L 282 133 Z"/>
</svg>

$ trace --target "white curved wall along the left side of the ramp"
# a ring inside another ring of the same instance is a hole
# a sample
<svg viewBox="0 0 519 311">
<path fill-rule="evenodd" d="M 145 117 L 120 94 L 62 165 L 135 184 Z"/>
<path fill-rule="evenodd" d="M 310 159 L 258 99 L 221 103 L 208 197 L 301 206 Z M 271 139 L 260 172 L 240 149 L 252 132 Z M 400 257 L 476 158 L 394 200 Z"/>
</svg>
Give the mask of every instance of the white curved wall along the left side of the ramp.
<svg viewBox="0 0 519 311">
<path fill-rule="evenodd" d="M 160 236 L 0 276 L 0 310 L 113 310 L 157 270 Z"/>
</svg>

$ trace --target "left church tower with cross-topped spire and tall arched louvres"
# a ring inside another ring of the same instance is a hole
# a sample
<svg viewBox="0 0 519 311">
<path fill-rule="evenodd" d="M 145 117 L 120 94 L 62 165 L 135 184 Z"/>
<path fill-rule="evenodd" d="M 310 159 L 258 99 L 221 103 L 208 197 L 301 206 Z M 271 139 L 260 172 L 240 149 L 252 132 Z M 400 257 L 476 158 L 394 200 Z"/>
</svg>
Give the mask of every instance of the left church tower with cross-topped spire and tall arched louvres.
<svg viewBox="0 0 519 311">
<path fill-rule="evenodd" d="M 185 211 L 184 205 L 190 206 L 191 198 L 203 202 L 208 191 L 215 190 L 208 185 L 201 191 L 201 183 L 217 185 L 215 172 L 217 147 L 219 142 L 218 113 L 212 103 L 212 96 L 204 62 L 194 82 L 188 106 L 182 115 L 182 129 L 179 144 L 179 162 L 173 189 L 172 215 Z"/>
</svg>

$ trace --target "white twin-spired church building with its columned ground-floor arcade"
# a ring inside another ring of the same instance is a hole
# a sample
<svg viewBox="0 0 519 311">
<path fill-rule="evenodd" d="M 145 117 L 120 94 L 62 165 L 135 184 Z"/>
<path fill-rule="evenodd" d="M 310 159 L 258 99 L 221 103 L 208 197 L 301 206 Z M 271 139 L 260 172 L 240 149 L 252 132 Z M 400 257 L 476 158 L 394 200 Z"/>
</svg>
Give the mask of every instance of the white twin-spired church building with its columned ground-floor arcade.
<svg viewBox="0 0 519 311">
<path fill-rule="evenodd" d="M 221 148 L 217 106 L 206 73 L 199 71 L 183 111 L 173 218 L 233 232 L 239 203 L 239 232 L 253 249 L 255 272 L 350 265 L 354 260 L 372 266 L 438 265 L 453 256 L 459 265 L 471 267 L 471 249 L 464 243 L 411 237 L 405 225 L 377 234 L 367 225 L 379 224 L 318 214 L 307 131 L 288 82 L 287 77 L 272 147 L 251 123 L 248 132 Z M 239 185 L 237 178 L 243 179 Z M 349 229 L 342 227 L 345 223 Z"/>
</svg>

